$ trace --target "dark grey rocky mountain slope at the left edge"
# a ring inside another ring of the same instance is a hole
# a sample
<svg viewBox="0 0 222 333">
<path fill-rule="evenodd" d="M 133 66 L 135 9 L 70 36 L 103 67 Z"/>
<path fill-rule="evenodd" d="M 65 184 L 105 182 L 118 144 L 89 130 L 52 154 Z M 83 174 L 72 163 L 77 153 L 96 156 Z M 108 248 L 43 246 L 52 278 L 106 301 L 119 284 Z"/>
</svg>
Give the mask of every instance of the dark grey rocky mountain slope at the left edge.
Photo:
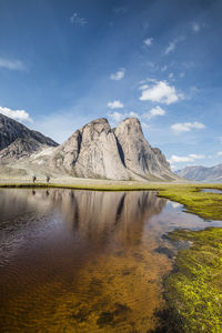
<svg viewBox="0 0 222 333">
<path fill-rule="evenodd" d="M 42 147 L 57 147 L 50 138 L 31 131 L 16 120 L 0 113 L 0 155 L 20 158 L 30 155 Z"/>
</svg>

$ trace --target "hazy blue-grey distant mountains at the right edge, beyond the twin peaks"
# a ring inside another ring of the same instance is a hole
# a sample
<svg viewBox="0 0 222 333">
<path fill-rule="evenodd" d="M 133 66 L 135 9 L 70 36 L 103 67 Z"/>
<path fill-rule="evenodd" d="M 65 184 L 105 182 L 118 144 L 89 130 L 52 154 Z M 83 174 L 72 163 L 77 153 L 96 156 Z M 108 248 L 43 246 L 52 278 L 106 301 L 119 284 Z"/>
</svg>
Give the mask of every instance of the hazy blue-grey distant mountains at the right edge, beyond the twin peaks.
<svg viewBox="0 0 222 333">
<path fill-rule="evenodd" d="M 210 168 L 202 165 L 186 167 L 182 170 L 176 171 L 175 173 L 188 180 L 208 183 L 222 182 L 222 164 Z"/>
</svg>

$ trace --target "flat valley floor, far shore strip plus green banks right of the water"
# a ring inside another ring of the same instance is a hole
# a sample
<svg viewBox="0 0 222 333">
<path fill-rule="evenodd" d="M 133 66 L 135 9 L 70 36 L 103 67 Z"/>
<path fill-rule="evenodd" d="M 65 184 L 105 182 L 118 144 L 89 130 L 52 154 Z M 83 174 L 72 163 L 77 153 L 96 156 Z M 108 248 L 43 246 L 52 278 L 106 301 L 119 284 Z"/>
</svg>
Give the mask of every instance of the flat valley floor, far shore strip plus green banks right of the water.
<svg viewBox="0 0 222 333">
<path fill-rule="evenodd" d="M 40 180 L 41 181 L 41 180 Z M 1 180 L 0 188 L 68 188 L 97 191 L 154 190 L 159 196 L 180 202 L 186 212 L 202 219 L 222 220 L 222 184 L 143 183 L 103 180 L 61 179 L 31 183 L 30 180 Z M 208 226 L 208 225 L 206 225 Z M 165 278 L 169 305 L 167 332 L 222 332 L 222 229 L 179 230 L 168 235 L 172 242 L 186 241 L 191 246 L 179 251 L 173 272 Z M 168 331 L 169 330 L 169 331 Z"/>
</svg>

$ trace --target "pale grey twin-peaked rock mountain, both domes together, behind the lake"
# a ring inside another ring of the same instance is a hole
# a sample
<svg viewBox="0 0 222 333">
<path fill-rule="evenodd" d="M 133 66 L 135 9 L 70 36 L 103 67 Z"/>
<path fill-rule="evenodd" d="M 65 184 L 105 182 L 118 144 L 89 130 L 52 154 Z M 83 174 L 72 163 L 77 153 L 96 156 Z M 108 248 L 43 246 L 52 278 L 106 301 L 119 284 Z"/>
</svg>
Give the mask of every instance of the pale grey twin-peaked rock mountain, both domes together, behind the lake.
<svg viewBox="0 0 222 333">
<path fill-rule="evenodd" d="M 98 119 L 75 131 L 53 155 L 56 168 L 81 178 L 172 180 L 165 157 L 143 137 L 140 121 L 129 118 L 112 130 Z"/>
</svg>

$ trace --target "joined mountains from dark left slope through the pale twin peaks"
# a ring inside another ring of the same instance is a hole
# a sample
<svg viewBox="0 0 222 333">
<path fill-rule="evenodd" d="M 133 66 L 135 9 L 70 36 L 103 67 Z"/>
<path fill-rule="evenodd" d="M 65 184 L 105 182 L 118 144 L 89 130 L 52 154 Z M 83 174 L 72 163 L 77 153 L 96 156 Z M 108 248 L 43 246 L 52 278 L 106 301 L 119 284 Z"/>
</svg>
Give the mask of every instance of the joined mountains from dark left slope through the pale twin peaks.
<svg viewBox="0 0 222 333">
<path fill-rule="evenodd" d="M 0 175 L 71 175 L 112 180 L 173 181 L 165 157 L 145 140 L 137 118 L 111 129 L 94 120 L 58 144 L 0 114 Z"/>
</svg>

